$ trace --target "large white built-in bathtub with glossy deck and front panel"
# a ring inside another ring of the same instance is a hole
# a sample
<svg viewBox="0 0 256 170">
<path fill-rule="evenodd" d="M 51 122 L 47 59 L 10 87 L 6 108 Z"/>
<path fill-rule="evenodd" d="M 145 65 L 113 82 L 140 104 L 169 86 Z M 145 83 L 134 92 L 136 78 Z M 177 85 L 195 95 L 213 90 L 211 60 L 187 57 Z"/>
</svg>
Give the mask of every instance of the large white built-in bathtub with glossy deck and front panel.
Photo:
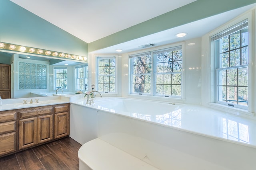
<svg viewBox="0 0 256 170">
<path fill-rule="evenodd" d="M 70 137 L 81 144 L 100 138 L 161 170 L 256 166 L 254 119 L 202 106 L 128 98 L 96 98 L 92 105 L 79 100 L 70 108 Z"/>
</svg>

